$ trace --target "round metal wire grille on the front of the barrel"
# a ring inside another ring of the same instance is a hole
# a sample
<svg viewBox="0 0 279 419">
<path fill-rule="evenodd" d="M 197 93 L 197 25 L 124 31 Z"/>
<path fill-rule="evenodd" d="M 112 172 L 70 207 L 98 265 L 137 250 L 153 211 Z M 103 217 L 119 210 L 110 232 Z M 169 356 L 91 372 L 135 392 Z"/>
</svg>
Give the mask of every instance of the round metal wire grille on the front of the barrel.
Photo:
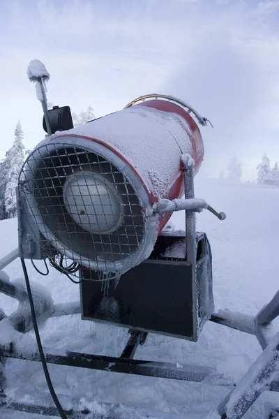
<svg viewBox="0 0 279 419">
<path fill-rule="evenodd" d="M 20 189 L 46 256 L 58 252 L 104 272 L 135 265 L 144 243 L 142 206 L 110 161 L 70 144 L 43 145 L 24 163 Z"/>
</svg>

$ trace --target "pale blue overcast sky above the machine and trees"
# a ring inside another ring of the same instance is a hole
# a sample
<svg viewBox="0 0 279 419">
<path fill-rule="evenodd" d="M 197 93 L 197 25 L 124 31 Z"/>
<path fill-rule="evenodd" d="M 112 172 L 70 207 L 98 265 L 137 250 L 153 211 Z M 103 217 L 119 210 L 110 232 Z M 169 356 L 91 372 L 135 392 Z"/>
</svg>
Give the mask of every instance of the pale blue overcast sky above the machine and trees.
<svg viewBox="0 0 279 419">
<path fill-rule="evenodd" d="M 31 59 L 50 72 L 49 101 L 96 116 L 146 93 L 190 102 L 202 128 L 202 172 L 234 152 L 244 179 L 266 152 L 279 161 L 279 0 L 0 0 L 0 157 L 17 121 L 33 148 L 42 110 Z"/>
</svg>

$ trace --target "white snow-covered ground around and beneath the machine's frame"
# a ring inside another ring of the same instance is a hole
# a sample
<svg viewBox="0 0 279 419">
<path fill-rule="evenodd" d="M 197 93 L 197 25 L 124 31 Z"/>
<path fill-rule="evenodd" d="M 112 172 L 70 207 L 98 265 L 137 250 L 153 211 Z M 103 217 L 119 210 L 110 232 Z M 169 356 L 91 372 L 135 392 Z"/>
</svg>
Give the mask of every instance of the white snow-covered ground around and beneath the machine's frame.
<svg viewBox="0 0 279 419">
<path fill-rule="evenodd" d="M 227 308 L 255 315 L 278 291 L 279 190 L 227 186 L 197 179 L 196 196 L 205 198 L 216 210 L 227 213 L 225 221 L 219 221 L 208 212 L 197 216 L 197 229 L 205 231 L 211 242 L 216 310 Z M 183 228 L 184 214 L 174 214 L 172 223 L 176 228 Z M 1 221 L 0 256 L 16 245 L 16 220 Z M 43 270 L 43 263 L 38 263 L 38 266 Z M 27 267 L 31 281 L 49 289 L 54 303 L 78 300 L 78 286 L 66 277 L 52 269 L 48 277 L 40 277 L 28 261 Z M 5 271 L 10 279 L 21 277 L 20 261 L 16 260 Z M 17 302 L 0 295 L 0 307 L 10 314 L 17 307 Z M 278 321 L 273 327 L 274 331 L 278 330 Z M 41 330 L 41 337 L 45 346 L 120 355 L 126 343 L 127 330 L 81 321 L 79 316 L 65 316 L 47 321 Z M 149 335 L 146 344 L 138 349 L 136 358 L 216 367 L 219 372 L 237 381 L 259 353 L 261 348 L 255 337 L 209 322 L 197 343 Z M 181 415 L 186 419 L 211 418 L 211 411 L 229 392 L 227 387 L 208 384 L 57 365 L 50 365 L 49 368 L 58 396 L 142 406 L 147 411 L 158 411 L 159 418 L 160 412 L 162 415 L 169 413 L 171 417 Z M 10 389 L 22 389 L 31 395 L 35 390 L 48 391 L 38 362 L 8 360 L 6 375 Z M 265 399 L 270 398 L 274 403 L 275 397 L 279 406 L 278 394 L 268 394 Z M 263 409 L 263 404 L 260 406 L 257 403 L 245 418 L 267 419 Z M 0 409 L 0 416 L 3 419 L 43 418 L 7 409 Z"/>
</svg>

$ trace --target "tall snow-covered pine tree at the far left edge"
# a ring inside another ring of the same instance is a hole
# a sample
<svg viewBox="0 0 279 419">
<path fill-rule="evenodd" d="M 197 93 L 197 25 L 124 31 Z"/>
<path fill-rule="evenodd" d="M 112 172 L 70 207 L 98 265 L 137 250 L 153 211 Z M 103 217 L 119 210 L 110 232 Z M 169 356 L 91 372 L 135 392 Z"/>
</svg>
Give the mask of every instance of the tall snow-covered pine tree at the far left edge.
<svg viewBox="0 0 279 419">
<path fill-rule="evenodd" d="M 20 121 L 17 122 L 15 128 L 15 140 L 13 146 L 8 150 L 8 168 L 7 168 L 7 183 L 5 189 L 5 210 L 7 218 L 13 218 L 17 216 L 17 202 L 15 189 L 17 187 L 18 177 L 20 175 L 20 169 L 24 163 L 24 145 L 23 145 L 23 132 Z"/>
</svg>

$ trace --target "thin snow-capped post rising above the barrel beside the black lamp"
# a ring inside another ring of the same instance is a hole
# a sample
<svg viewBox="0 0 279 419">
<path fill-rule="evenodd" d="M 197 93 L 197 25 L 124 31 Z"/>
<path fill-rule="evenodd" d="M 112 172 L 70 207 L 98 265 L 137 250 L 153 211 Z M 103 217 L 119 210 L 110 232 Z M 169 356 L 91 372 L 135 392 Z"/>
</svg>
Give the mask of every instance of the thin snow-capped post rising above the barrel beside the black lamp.
<svg viewBox="0 0 279 419">
<path fill-rule="evenodd" d="M 42 104 L 43 112 L 45 115 L 45 125 L 47 126 L 48 135 L 52 135 L 52 130 L 50 128 L 50 117 L 47 112 L 47 94 L 45 82 L 50 80 L 50 73 L 48 73 L 43 64 L 38 59 L 32 59 L 27 68 L 27 75 L 31 82 L 36 82 L 36 94 L 38 101 Z"/>
</svg>

